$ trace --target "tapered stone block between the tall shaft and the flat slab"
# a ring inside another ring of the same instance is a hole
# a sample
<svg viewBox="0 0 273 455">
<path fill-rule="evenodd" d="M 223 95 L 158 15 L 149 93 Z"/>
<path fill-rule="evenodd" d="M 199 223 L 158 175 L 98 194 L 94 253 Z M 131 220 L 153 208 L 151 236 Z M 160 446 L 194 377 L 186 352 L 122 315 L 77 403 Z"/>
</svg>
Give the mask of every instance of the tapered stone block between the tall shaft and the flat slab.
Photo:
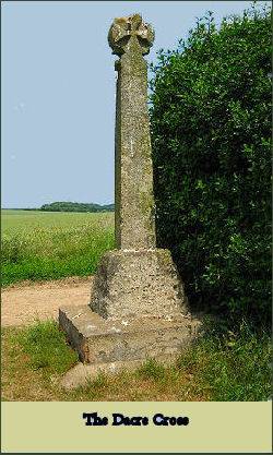
<svg viewBox="0 0 273 455">
<path fill-rule="evenodd" d="M 100 260 L 91 309 L 103 318 L 187 314 L 183 286 L 170 252 L 114 250 Z"/>
</svg>

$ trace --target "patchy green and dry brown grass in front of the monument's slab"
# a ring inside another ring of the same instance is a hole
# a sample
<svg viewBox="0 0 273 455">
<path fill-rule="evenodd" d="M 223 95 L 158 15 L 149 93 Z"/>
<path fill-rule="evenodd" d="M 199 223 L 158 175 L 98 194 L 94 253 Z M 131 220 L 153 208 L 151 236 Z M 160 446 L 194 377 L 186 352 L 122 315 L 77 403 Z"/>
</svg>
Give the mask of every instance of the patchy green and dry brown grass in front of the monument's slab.
<svg viewBox="0 0 273 455">
<path fill-rule="evenodd" d="M 237 335 L 211 332 L 177 364 L 147 360 L 134 372 L 98 374 L 67 392 L 58 382 L 76 362 L 52 321 L 2 331 L 2 394 L 5 400 L 266 400 L 270 397 L 270 336 L 247 324 Z M 29 386 L 31 384 L 31 386 Z"/>
</svg>

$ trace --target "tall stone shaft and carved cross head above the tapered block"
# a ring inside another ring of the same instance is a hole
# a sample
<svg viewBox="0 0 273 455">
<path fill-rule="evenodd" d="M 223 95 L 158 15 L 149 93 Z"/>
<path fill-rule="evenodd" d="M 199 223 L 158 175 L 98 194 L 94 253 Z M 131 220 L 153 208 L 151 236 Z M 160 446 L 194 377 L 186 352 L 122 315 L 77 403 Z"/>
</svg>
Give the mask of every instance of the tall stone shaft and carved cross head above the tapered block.
<svg viewBox="0 0 273 455">
<path fill-rule="evenodd" d="M 155 248 L 153 168 L 143 55 L 154 32 L 139 14 L 114 21 L 108 34 L 118 71 L 115 140 L 115 232 L 117 248 Z"/>
</svg>

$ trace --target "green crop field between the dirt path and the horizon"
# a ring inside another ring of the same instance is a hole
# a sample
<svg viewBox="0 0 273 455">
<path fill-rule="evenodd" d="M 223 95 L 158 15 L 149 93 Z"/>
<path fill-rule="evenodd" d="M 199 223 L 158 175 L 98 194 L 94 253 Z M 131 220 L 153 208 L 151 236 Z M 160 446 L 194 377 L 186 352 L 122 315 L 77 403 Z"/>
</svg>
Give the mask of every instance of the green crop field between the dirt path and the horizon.
<svg viewBox="0 0 273 455">
<path fill-rule="evenodd" d="M 2 285 L 93 274 L 112 248 L 114 213 L 1 211 Z"/>
</svg>

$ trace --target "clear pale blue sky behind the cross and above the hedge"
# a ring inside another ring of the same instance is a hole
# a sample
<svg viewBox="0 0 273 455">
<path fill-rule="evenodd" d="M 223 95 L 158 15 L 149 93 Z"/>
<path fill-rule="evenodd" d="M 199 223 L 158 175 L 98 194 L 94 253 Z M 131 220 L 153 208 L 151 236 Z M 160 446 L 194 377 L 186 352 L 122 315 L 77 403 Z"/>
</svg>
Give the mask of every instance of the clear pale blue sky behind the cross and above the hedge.
<svg viewBox="0 0 273 455">
<path fill-rule="evenodd" d="M 219 22 L 250 4 L 3 1 L 2 207 L 114 202 L 116 57 L 107 43 L 114 17 L 139 12 L 153 25 L 147 60 L 155 61 L 207 10 Z"/>
</svg>

